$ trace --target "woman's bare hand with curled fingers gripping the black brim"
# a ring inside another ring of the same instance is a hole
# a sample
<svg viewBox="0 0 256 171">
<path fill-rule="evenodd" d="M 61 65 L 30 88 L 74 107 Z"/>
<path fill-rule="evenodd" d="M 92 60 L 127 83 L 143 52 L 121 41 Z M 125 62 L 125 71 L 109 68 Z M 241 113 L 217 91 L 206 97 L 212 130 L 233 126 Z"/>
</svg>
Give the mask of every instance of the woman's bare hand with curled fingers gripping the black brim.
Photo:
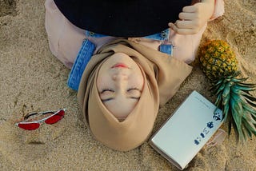
<svg viewBox="0 0 256 171">
<path fill-rule="evenodd" d="M 193 6 L 185 6 L 178 15 L 180 20 L 168 26 L 178 34 L 196 34 L 214 13 L 214 0 L 202 0 Z"/>
</svg>

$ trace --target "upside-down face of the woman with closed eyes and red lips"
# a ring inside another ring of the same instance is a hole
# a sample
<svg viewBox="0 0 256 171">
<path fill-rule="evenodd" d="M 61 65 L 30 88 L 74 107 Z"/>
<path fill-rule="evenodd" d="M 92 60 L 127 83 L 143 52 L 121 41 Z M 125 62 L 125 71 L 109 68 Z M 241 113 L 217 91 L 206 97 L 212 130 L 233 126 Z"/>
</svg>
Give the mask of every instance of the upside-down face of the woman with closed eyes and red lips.
<svg viewBox="0 0 256 171">
<path fill-rule="evenodd" d="M 113 54 L 98 72 L 97 88 L 103 104 L 122 120 L 134 109 L 142 94 L 142 71 L 130 56 Z"/>
</svg>

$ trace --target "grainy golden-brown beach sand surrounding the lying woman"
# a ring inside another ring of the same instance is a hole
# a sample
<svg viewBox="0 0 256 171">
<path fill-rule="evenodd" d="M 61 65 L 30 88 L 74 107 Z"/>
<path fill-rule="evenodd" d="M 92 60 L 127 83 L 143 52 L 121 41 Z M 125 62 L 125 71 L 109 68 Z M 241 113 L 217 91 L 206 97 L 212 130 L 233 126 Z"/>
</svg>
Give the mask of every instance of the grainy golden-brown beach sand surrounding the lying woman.
<svg viewBox="0 0 256 171">
<path fill-rule="evenodd" d="M 43 3 L 0 0 L 0 170 L 177 170 L 148 143 L 123 153 L 94 140 L 76 93 L 66 86 L 70 70 L 50 53 Z M 209 23 L 202 41 L 229 42 L 242 74 L 256 82 L 256 2 L 226 0 L 225 5 L 226 13 Z M 194 65 L 178 93 L 159 110 L 153 132 L 192 90 L 214 101 L 208 85 Z M 55 125 L 35 131 L 14 126 L 31 111 L 59 108 L 66 108 L 66 116 Z M 255 140 L 237 144 L 231 133 L 221 145 L 205 146 L 187 170 L 256 170 Z"/>
</svg>

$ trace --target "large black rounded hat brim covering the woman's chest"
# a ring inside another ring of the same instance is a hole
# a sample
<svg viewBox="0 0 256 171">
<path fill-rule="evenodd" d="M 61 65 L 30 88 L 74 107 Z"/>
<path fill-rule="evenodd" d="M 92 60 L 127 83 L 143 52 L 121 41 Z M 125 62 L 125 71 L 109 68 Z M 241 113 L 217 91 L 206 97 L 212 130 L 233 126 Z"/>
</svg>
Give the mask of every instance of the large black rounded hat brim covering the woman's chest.
<svg viewBox="0 0 256 171">
<path fill-rule="evenodd" d="M 116 37 L 142 37 L 175 22 L 191 0 L 54 0 L 64 16 L 84 30 Z"/>
</svg>

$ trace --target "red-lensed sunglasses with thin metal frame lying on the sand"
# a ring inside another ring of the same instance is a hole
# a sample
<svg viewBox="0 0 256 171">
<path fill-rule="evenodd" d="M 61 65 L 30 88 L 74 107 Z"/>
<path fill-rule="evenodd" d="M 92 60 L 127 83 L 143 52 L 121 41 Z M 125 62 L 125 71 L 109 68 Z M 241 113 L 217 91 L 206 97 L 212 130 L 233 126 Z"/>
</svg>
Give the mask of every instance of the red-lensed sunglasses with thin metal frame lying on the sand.
<svg viewBox="0 0 256 171">
<path fill-rule="evenodd" d="M 26 130 L 38 129 L 44 122 L 46 124 L 54 124 L 62 120 L 65 115 L 65 109 L 58 109 L 55 111 L 46 111 L 38 113 L 28 113 L 23 121 L 15 123 L 19 128 Z"/>
</svg>

